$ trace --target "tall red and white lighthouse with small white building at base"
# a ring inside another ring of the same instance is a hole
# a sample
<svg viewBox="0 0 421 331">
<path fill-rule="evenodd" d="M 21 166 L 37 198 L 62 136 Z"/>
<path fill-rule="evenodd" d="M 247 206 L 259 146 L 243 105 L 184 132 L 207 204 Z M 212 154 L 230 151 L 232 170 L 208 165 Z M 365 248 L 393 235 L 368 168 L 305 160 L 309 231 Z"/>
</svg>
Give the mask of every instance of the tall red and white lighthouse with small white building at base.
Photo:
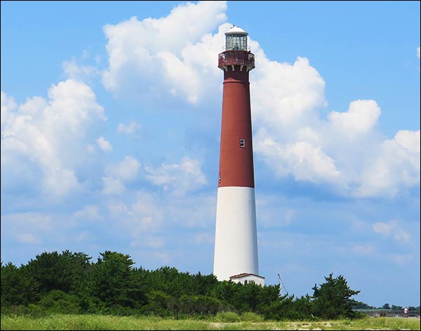
<svg viewBox="0 0 421 331">
<path fill-rule="evenodd" d="M 213 274 L 218 281 L 264 285 L 259 276 L 249 72 L 255 67 L 247 35 L 225 33 L 218 67 L 224 72 Z"/>
</svg>

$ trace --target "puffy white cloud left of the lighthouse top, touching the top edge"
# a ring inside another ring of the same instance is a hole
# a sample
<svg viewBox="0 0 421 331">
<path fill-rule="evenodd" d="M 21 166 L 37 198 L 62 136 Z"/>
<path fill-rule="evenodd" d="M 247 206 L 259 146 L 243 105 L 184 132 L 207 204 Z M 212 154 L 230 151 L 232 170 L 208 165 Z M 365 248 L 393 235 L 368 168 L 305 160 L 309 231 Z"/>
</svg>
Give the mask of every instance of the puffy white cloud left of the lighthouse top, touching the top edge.
<svg viewBox="0 0 421 331">
<path fill-rule="evenodd" d="M 180 4 L 165 18 L 139 21 L 133 17 L 105 25 L 109 55 L 102 76 L 105 88 L 123 97 L 147 95 L 162 100 L 163 93 L 170 93 L 196 103 L 205 95 L 203 73 L 216 78 L 219 70 L 208 62 L 215 64 L 213 54 L 221 49 L 223 34 L 215 37 L 208 32 L 226 20 L 226 9 L 226 1 L 199 1 Z"/>
</svg>

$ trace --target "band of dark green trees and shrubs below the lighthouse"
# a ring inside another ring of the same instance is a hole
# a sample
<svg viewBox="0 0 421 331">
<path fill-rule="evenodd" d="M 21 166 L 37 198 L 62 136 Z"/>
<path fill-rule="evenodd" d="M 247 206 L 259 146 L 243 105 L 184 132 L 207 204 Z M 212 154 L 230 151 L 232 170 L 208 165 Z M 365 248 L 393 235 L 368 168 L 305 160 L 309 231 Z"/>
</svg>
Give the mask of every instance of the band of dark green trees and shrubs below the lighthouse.
<svg viewBox="0 0 421 331">
<path fill-rule="evenodd" d="M 1 313 L 98 313 L 124 316 L 207 317 L 220 312 L 257 313 L 271 320 L 354 318 L 343 276 L 330 273 L 313 295 L 280 295 L 279 285 L 218 281 L 213 274 L 169 266 L 134 267 L 129 255 L 105 251 L 97 262 L 83 252 L 43 252 L 20 267 L 1 262 Z"/>
</svg>

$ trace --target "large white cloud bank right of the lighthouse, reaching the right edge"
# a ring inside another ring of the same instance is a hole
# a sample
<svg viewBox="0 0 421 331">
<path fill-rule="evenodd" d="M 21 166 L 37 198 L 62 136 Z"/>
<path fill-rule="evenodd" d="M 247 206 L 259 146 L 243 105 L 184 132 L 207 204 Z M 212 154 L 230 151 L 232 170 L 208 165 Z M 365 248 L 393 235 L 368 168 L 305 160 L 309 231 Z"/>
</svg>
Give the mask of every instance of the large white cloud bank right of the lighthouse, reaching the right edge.
<svg viewBox="0 0 421 331">
<path fill-rule="evenodd" d="M 307 58 L 294 65 L 269 61 L 253 43 L 253 146 L 276 177 L 359 197 L 393 197 L 419 184 L 419 131 L 396 134 L 394 143 L 405 149 L 388 146 L 378 132 L 375 100 L 354 100 L 347 111 L 322 119 L 317 109 L 327 106 L 325 82 Z"/>
</svg>

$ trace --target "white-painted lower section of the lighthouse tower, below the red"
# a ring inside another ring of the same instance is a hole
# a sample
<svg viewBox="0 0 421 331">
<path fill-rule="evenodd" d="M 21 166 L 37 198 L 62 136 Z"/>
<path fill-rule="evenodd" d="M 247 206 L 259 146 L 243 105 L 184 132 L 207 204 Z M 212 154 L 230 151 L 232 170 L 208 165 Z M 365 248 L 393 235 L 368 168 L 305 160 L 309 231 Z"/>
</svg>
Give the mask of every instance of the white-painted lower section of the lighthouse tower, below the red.
<svg viewBox="0 0 421 331">
<path fill-rule="evenodd" d="M 239 273 L 259 274 L 255 189 L 219 187 L 213 274 L 229 281 Z"/>
</svg>

